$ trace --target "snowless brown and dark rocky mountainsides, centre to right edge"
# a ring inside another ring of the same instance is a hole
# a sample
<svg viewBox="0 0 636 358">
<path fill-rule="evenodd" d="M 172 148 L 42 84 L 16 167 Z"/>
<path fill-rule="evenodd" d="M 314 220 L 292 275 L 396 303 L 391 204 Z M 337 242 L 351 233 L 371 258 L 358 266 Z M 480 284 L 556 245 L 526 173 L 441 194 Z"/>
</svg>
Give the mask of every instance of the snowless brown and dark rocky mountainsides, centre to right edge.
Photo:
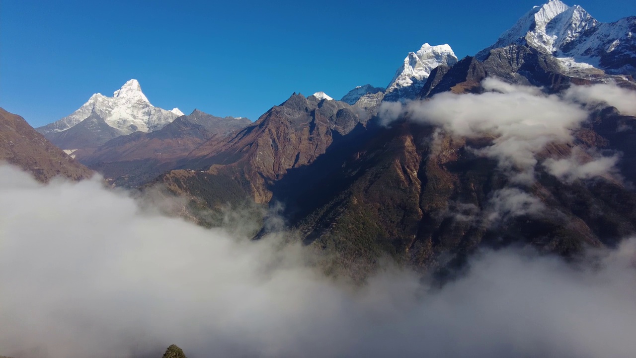
<svg viewBox="0 0 636 358">
<path fill-rule="evenodd" d="M 555 98 L 574 85 L 636 90 L 630 76 L 564 68 L 552 54 L 510 43 L 480 60 L 432 69 L 417 99 L 483 94 L 492 78 Z M 381 116 L 381 101 L 349 107 L 294 95 L 233 138 L 196 148 L 183 165 L 190 170 L 159 181 L 211 208 L 245 197 L 282 207 L 305 244 L 333 254 L 333 269 L 360 277 L 385 255 L 443 273 L 481 245 L 532 245 L 572 257 L 636 232 L 635 117 L 607 103 L 588 105 L 590 117 L 568 140 L 541 147 L 532 160 L 543 164 L 532 182 L 520 183 L 483 155 L 503 141 L 499 134 L 453 134 L 404 114 L 387 126 L 356 111 Z M 567 180 L 555 171 L 574 169 L 545 164 L 584 167 L 600 153 L 615 154 L 603 160 L 615 160 L 618 171 Z"/>
</svg>

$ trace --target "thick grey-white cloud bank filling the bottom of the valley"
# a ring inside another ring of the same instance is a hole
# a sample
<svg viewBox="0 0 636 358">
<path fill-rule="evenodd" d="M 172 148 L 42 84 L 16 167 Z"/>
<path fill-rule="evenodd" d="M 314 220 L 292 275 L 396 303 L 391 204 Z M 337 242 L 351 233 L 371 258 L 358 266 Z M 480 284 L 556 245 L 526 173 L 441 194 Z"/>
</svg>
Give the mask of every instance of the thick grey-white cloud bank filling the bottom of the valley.
<svg viewBox="0 0 636 358">
<path fill-rule="evenodd" d="M 159 357 L 176 343 L 191 358 L 630 357 L 636 241 L 595 254 L 574 268 L 485 252 L 442 289 L 397 269 L 351 287 L 301 247 L 1 166 L 0 355 Z"/>
</svg>

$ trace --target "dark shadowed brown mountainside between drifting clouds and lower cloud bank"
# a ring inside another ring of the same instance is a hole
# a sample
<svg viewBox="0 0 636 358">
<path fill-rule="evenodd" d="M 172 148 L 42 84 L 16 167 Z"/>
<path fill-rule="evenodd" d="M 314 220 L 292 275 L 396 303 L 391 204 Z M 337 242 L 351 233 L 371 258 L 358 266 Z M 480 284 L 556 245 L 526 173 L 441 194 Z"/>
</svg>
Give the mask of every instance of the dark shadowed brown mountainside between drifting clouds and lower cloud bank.
<svg viewBox="0 0 636 358">
<path fill-rule="evenodd" d="M 305 243 L 328 250 L 354 275 L 386 254 L 439 269 L 462 264 L 484 244 L 528 243 L 574 255 L 636 231 L 636 194 L 618 180 L 564 183 L 540 169 L 534 185 L 516 185 L 470 149 L 492 138 L 443 136 L 431 146 L 433 131 L 403 122 L 350 138 L 357 145 L 330 148 L 324 161 L 288 173 L 273 187 L 273 200 L 284 204 Z M 566 157 L 570 146 L 542 155 Z M 491 221 L 499 190 L 540 198 L 546 210 Z"/>
</svg>

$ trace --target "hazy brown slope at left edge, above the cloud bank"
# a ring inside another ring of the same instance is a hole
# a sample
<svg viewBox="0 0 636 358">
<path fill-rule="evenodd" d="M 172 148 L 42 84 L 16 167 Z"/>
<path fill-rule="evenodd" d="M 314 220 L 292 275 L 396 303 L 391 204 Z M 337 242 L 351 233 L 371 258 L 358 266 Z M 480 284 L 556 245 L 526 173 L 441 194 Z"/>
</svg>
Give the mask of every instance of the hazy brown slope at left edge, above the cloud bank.
<svg viewBox="0 0 636 358">
<path fill-rule="evenodd" d="M 81 180 L 93 175 L 90 169 L 36 132 L 24 118 L 3 108 L 0 108 L 0 161 L 30 171 L 41 182 L 54 176 Z"/>
</svg>

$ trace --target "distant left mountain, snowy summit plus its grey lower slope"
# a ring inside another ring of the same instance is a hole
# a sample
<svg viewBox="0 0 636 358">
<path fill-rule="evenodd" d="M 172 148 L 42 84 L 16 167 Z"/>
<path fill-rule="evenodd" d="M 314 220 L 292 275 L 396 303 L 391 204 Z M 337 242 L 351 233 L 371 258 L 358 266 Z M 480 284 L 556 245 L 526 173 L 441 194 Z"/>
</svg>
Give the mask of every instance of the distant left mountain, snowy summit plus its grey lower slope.
<svg viewBox="0 0 636 358">
<path fill-rule="evenodd" d="M 59 147 L 77 149 L 78 147 L 73 146 L 99 145 L 113 138 L 113 134 L 116 133 L 156 131 L 181 115 L 183 113 L 178 108 L 167 111 L 150 104 L 141 92 L 139 82 L 130 80 L 121 89 L 116 90 L 113 97 L 106 97 L 100 93 L 93 94 L 88 102 L 68 117 L 39 127 L 37 131 L 45 134 L 47 138 L 54 138 Z M 80 131 L 68 136 L 53 135 L 67 131 L 89 117 L 89 123 L 84 124 Z M 99 123 L 95 122 L 98 117 L 101 118 Z M 107 129 L 103 124 L 112 127 L 114 131 Z"/>
</svg>

